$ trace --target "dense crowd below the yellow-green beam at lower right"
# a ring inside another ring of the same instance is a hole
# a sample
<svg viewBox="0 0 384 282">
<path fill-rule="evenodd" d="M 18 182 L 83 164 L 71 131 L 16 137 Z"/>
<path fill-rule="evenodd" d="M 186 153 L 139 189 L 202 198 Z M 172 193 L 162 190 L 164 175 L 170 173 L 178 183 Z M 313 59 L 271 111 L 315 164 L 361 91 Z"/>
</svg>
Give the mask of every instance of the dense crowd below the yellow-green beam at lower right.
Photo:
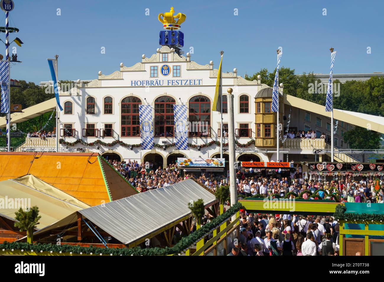
<svg viewBox="0 0 384 282">
<path fill-rule="evenodd" d="M 240 226 L 227 256 L 337 256 L 339 252 L 339 223 L 332 217 L 242 210 Z"/>
</svg>

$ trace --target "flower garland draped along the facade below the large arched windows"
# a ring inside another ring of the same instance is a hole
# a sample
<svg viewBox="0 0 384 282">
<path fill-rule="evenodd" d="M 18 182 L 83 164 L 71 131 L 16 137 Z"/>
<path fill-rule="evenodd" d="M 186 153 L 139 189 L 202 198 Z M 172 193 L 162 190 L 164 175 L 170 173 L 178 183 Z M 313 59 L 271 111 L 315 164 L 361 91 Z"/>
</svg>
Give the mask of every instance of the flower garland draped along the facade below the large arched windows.
<svg viewBox="0 0 384 282">
<path fill-rule="evenodd" d="M 96 140 L 94 142 L 87 143 L 87 142 L 83 141 L 82 139 L 77 139 L 74 142 L 67 142 L 63 138 L 61 138 L 59 140 L 59 143 L 63 144 L 63 145 L 68 145 L 68 146 L 74 146 L 77 143 L 80 143 L 83 146 L 94 146 L 94 145 L 98 145 L 99 144 L 99 145 L 102 145 L 104 147 L 113 147 L 114 145 L 119 144 L 119 145 L 121 145 L 123 147 L 126 147 L 126 148 L 130 148 L 130 146 L 132 146 L 134 148 L 141 147 L 141 144 L 128 144 L 128 143 L 122 142 L 121 140 L 114 140 L 111 143 L 106 143 L 106 142 L 103 142 L 101 140 Z M 199 146 L 200 146 L 200 148 L 205 148 L 205 147 L 212 146 L 214 144 L 216 144 L 217 146 L 220 146 L 220 142 L 219 141 L 210 141 L 208 143 L 201 144 Z M 255 144 L 254 140 L 249 140 L 247 143 L 240 143 L 240 142 L 238 142 L 236 140 L 236 145 L 238 147 L 241 147 L 241 148 L 246 148 L 246 147 L 249 147 L 249 146 L 254 145 L 254 144 Z M 167 145 L 161 145 L 161 144 L 154 143 L 153 146 L 156 147 L 156 148 L 163 148 L 163 146 L 165 146 L 165 149 L 167 149 L 167 148 L 170 148 L 170 147 L 175 147 L 175 143 L 171 143 L 171 144 L 167 144 Z M 223 143 L 223 146 L 224 147 L 228 146 L 228 143 Z M 197 148 L 197 145 L 196 144 L 188 143 L 188 147 L 190 147 L 190 148 Z"/>
</svg>

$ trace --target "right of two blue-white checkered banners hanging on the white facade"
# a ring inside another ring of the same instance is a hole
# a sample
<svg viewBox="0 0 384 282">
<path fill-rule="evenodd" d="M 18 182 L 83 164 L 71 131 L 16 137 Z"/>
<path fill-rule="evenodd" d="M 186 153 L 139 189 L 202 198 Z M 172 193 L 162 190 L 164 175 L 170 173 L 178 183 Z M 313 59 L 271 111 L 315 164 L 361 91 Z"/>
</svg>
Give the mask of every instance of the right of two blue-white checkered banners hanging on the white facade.
<svg viewBox="0 0 384 282">
<path fill-rule="evenodd" d="M 173 105 L 175 125 L 175 147 L 178 150 L 188 150 L 187 107 Z"/>
</svg>

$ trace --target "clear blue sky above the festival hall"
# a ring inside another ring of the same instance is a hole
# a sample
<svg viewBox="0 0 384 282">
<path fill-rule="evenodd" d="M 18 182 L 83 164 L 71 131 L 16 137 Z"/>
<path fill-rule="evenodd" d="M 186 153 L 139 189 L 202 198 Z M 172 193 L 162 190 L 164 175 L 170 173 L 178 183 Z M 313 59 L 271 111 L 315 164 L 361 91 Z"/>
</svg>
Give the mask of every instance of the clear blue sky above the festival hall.
<svg viewBox="0 0 384 282">
<path fill-rule="evenodd" d="M 382 10 L 384 1 L 130 1 L 130 0 L 14 0 L 10 26 L 23 42 L 11 77 L 38 83 L 50 80 L 47 58 L 59 55 L 59 79 L 95 79 L 111 74 L 122 62 L 131 66 L 159 48 L 159 13 L 185 13 L 182 24 L 185 53 L 210 60 L 223 70 L 252 75 L 274 69 L 276 49 L 283 48 L 281 65 L 296 73 L 329 73 L 330 52 L 338 51 L 334 73 L 383 70 Z M 61 15 L 56 15 L 56 9 Z M 145 9 L 149 8 L 149 16 Z M 234 15 L 234 9 L 238 15 Z M 326 16 L 323 16 L 326 8 Z M 1 19 L 5 25 L 5 18 Z M 5 34 L 2 33 L 5 41 Z M 15 34 L 10 35 L 11 41 Z M 367 54 L 367 47 L 371 54 Z M 101 47 L 106 53 L 101 54 Z M 5 55 L 5 50 L 0 51 Z"/>
</svg>

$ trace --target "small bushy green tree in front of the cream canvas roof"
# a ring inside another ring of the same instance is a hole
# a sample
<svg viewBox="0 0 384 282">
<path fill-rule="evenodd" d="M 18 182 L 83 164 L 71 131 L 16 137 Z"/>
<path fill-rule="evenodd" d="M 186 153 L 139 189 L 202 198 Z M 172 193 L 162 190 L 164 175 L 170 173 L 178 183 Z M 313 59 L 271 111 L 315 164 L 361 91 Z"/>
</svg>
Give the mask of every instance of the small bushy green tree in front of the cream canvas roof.
<svg viewBox="0 0 384 282">
<path fill-rule="evenodd" d="M 18 221 L 15 222 L 15 227 L 19 228 L 20 231 L 26 231 L 26 241 L 29 244 L 33 244 L 33 229 L 40 224 L 38 222 L 40 218 L 37 206 L 33 206 L 29 211 L 20 208 L 15 212 L 15 219 Z"/>
</svg>

